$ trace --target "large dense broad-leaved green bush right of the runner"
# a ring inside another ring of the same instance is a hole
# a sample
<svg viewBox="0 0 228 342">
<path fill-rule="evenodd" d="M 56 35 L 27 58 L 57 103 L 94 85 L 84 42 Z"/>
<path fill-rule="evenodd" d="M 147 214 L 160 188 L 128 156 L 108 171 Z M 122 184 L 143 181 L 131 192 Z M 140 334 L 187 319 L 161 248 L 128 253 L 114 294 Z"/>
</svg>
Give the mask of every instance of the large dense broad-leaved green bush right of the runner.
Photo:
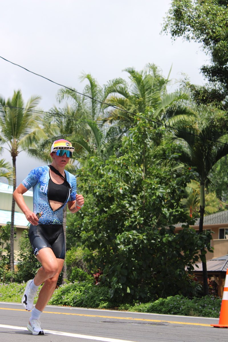
<svg viewBox="0 0 228 342">
<path fill-rule="evenodd" d="M 72 230 L 84 247 L 88 268 L 100 272 L 101 284 L 118 301 L 193 293 L 185 266 L 191 269 L 199 248 L 210 239 L 188 226 L 174 233 L 173 224 L 188 221 L 180 199 L 194 172 L 159 169 L 147 128 L 147 121 L 136 120 L 123 139 L 121 156 L 105 163 L 93 156 L 79 170 L 86 206 L 71 222 Z M 166 152 L 173 153 L 170 144 Z"/>
</svg>

